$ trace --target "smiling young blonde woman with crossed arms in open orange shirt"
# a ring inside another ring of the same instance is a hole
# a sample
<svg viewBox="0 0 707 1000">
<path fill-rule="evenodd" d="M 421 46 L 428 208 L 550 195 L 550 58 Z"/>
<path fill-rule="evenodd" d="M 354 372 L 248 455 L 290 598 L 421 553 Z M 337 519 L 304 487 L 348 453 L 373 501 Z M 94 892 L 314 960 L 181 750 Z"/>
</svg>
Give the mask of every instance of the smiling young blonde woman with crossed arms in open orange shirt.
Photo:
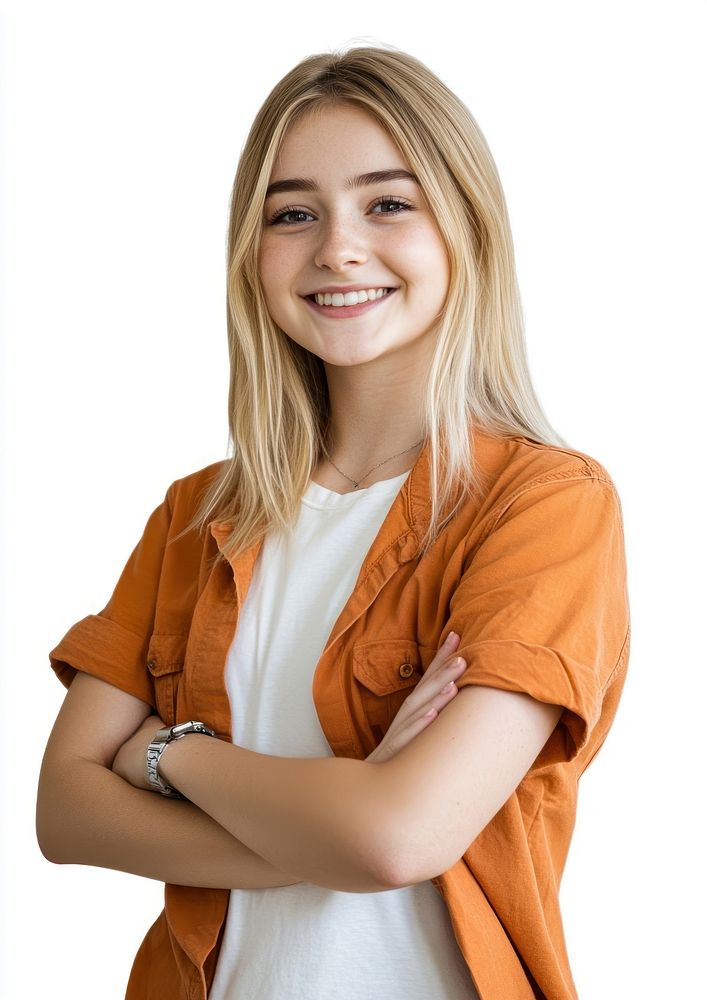
<svg viewBox="0 0 707 1000">
<path fill-rule="evenodd" d="M 42 851 L 166 883 L 128 1000 L 576 997 L 621 507 L 543 414 L 493 159 L 419 61 L 316 55 L 267 98 L 228 335 L 232 457 L 50 653 Z"/>
</svg>

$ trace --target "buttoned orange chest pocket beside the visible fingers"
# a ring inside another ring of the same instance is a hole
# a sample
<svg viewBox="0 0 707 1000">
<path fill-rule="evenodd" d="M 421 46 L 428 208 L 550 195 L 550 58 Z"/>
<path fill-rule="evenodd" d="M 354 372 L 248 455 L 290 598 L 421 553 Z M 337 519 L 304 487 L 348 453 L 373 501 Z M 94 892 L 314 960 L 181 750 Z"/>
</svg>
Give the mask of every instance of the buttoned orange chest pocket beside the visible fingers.
<svg viewBox="0 0 707 1000">
<path fill-rule="evenodd" d="M 373 639 L 353 648 L 356 691 L 368 724 L 382 738 L 436 649 L 410 639 Z"/>
</svg>

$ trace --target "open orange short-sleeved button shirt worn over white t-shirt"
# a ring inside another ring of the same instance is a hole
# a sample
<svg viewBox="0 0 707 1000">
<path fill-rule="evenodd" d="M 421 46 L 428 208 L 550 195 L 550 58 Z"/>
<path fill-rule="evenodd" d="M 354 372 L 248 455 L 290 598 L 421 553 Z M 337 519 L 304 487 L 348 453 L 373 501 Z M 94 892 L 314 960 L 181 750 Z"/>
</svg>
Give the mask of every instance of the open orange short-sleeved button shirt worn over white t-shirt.
<svg viewBox="0 0 707 1000">
<path fill-rule="evenodd" d="M 621 504 L 607 471 L 581 452 L 478 429 L 474 445 L 483 498 L 466 503 L 422 559 L 429 445 L 420 452 L 315 666 L 313 698 L 333 753 L 365 759 L 454 630 L 467 661 L 459 688 L 521 691 L 564 707 L 515 792 L 432 881 L 481 1000 L 571 1000 L 558 891 L 577 782 L 626 676 Z M 229 563 L 222 523 L 176 537 L 220 464 L 172 483 L 108 605 L 49 656 L 67 687 L 83 670 L 168 724 L 201 719 L 230 740 L 224 665 L 262 542 Z M 228 900 L 228 889 L 165 886 L 126 1000 L 205 998 Z"/>
</svg>

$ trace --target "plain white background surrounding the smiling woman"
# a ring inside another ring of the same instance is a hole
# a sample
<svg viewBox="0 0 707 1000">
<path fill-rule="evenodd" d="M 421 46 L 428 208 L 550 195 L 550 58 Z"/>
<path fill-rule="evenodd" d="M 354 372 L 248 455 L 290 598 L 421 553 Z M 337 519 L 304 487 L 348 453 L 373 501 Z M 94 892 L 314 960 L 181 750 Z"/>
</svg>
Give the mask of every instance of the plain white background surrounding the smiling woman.
<svg viewBox="0 0 707 1000">
<path fill-rule="evenodd" d="M 477 118 L 541 400 L 623 503 L 629 676 L 561 893 L 579 995 L 704 988 L 704 29 L 684 0 L 5 4 L 3 996 L 123 997 L 162 908 L 157 882 L 39 852 L 47 654 L 167 486 L 226 456 L 239 152 L 287 70 L 355 40 L 416 55 Z"/>
</svg>

